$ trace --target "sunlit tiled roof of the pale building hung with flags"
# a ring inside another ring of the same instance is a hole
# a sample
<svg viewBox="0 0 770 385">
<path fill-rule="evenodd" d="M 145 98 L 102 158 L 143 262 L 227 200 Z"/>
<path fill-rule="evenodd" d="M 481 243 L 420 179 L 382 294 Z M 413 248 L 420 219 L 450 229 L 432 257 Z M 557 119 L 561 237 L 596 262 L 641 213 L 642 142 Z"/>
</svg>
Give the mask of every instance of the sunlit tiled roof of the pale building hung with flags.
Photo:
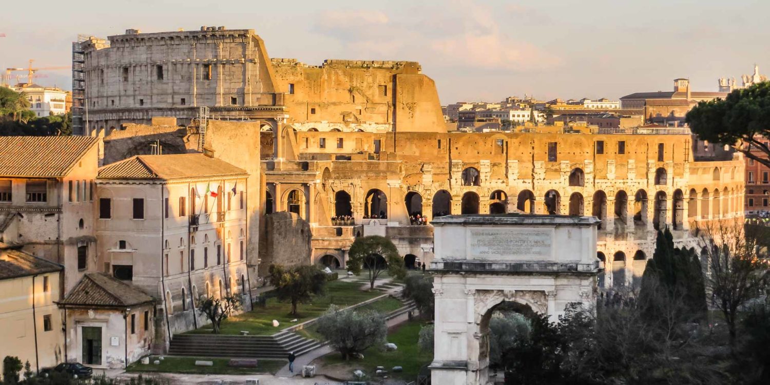
<svg viewBox="0 0 770 385">
<path fill-rule="evenodd" d="M 223 160 L 203 154 L 139 155 L 99 169 L 99 179 L 186 179 L 247 175 Z"/>
</svg>

